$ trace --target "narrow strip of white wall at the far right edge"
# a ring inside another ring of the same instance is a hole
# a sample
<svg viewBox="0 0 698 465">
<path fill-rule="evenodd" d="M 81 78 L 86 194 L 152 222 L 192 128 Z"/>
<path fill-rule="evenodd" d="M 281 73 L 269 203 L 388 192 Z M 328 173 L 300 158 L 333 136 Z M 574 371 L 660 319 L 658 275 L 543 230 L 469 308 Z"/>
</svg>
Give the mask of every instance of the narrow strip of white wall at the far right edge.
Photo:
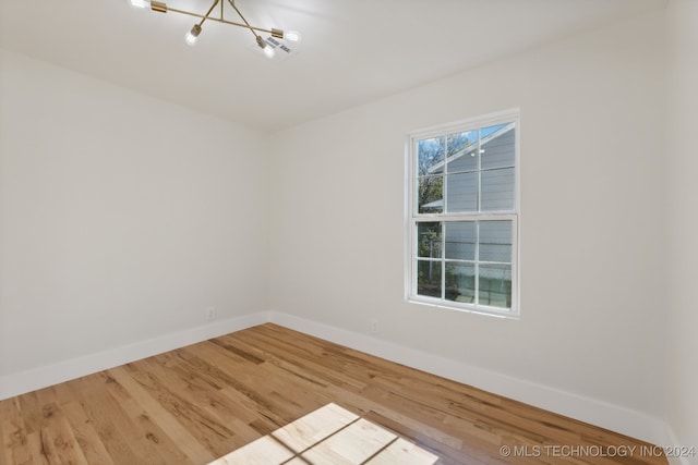
<svg viewBox="0 0 698 465">
<path fill-rule="evenodd" d="M 669 412 L 677 444 L 698 449 L 698 2 L 672 0 L 667 32 Z"/>
</svg>

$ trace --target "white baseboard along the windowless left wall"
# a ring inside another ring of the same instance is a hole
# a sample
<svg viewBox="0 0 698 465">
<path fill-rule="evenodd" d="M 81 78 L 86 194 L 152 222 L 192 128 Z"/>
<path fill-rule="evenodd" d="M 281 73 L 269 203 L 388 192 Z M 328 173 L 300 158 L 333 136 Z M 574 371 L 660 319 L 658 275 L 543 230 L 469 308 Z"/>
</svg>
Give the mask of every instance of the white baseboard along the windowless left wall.
<svg viewBox="0 0 698 465">
<path fill-rule="evenodd" d="M 2 376 L 0 377 L 0 400 L 113 368 L 222 334 L 240 331 L 267 322 L 268 320 L 269 314 L 264 311 L 218 320 L 135 344 L 115 347 L 53 365 Z"/>
</svg>

